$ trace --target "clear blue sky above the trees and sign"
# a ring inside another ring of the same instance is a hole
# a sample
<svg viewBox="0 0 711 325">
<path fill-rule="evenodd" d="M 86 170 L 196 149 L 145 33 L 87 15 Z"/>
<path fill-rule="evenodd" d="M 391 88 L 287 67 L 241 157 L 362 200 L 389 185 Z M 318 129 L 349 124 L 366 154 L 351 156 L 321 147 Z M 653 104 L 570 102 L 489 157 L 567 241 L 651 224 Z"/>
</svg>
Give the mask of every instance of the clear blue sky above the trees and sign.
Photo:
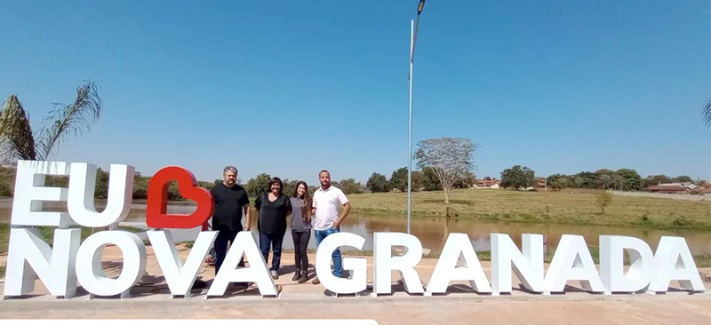
<svg viewBox="0 0 711 325">
<path fill-rule="evenodd" d="M 407 163 L 417 1 L 10 1 L 0 96 L 39 127 L 84 79 L 105 111 L 55 159 L 234 164 L 316 183 Z M 634 168 L 711 178 L 708 1 L 429 0 L 415 61 L 414 140 L 481 147 L 477 176 Z"/>
</svg>

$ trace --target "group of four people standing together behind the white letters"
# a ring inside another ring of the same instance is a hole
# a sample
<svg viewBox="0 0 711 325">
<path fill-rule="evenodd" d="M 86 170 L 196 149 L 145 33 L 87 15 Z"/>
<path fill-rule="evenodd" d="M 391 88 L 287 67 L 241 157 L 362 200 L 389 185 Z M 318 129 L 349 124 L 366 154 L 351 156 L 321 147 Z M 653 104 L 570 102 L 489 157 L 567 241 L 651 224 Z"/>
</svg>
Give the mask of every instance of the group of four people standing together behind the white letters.
<svg viewBox="0 0 711 325">
<path fill-rule="evenodd" d="M 236 184 L 237 169 L 234 166 L 225 167 L 223 182 L 210 190 L 215 201 L 212 213 L 212 230 L 218 231 L 214 243 L 215 273 L 225 260 L 228 244 L 231 244 L 241 231 L 250 231 L 252 212 L 250 200 L 244 187 Z M 292 281 L 300 283 L 308 281 L 308 242 L 313 228 L 316 236 L 316 246 L 328 235 L 340 232 L 340 225 L 348 217 L 351 206 L 346 194 L 331 185 L 331 173 L 321 170 L 318 173 L 319 188 L 312 195 L 308 194 L 308 185 L 300 181 L 293 193 L 284 194 L 284 184 L 280 178 L 271 178 L 267 192 L 260 194 L 254 207 L 257 210 L 258 231 L 260 234 L 260 250 L 265 262 L 272 251 L 272 278 L 278 279 L 281 266 L 282 246 L 287 231 L 287 216 L 291 215 L 291 231 L 294 244 L 294 266 L 296 271 Z M 340 210 L 340 207 L 343 207 Z M 245 217 L 244 227 L 242 217 Z M 333 274 L 343 275 L 340 250 L 332 253 Z M 244 266 L 241 261 L 239 266 Z M 314 284 L 320 283 L 318 278 Z"/>
</svg>

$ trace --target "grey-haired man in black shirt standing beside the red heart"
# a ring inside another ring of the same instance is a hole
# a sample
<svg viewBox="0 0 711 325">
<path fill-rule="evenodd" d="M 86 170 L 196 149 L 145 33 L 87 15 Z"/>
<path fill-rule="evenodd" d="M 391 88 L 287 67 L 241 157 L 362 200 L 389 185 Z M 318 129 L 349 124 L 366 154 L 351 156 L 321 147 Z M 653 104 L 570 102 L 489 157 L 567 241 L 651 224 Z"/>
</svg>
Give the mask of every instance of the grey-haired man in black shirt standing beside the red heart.
<svg viewBox="0 0 711 325">
<path fill-rule="evenodd" d="M 218 231 L 215 239 L 215 275 L 220 272 L 220 266 L 225 261 L 228 252 L 228 242 L 235 241 L 237 233 L 243 230 L 242 215 L 246 216 L 244 230 L 250 230 L 250 199 L 242 186 L 236 184 L 237 169 L 225 167 L 222 171 L 222 183 L 210 190 L 215 200 L 215 210 L 212 213 L 212 230 Z M 240 260 L 239 266 L 244 266 Z"/>
</svg>

